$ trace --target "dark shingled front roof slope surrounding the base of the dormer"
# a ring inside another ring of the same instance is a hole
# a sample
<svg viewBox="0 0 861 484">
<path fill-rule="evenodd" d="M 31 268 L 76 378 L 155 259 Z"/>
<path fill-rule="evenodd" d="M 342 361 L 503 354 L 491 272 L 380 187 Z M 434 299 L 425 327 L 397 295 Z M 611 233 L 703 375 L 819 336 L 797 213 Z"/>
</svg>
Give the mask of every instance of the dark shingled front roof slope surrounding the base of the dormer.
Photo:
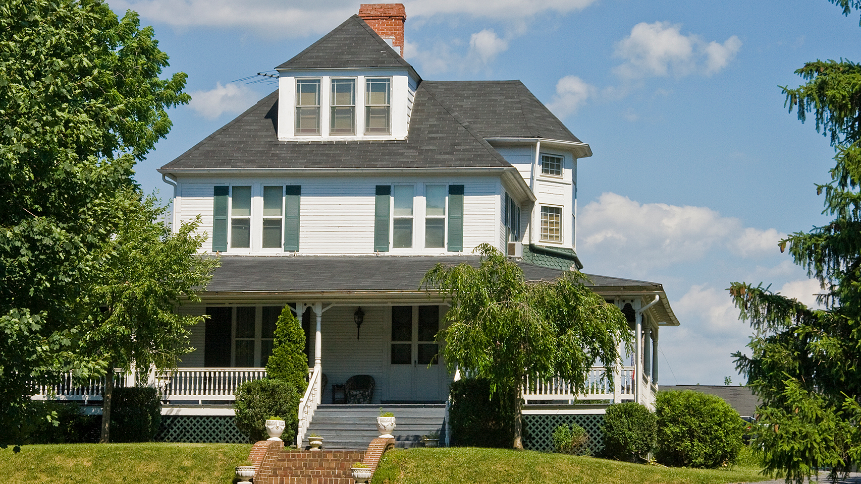
<svg viewBox="0 0 861 484">
<path fill-rule="evenodd" d="M 278 92 L 164 165 L 189 168 L 510 168 L 511 163 L 419 85 L 408 138 L 278 141 Z"/>
</svg>

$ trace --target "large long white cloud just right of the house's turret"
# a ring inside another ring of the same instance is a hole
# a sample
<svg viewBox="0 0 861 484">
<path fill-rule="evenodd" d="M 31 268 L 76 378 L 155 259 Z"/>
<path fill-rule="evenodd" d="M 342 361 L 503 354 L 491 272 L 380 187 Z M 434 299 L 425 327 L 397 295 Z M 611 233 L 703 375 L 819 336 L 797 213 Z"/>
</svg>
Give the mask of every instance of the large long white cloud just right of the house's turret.
<svg viewBox="0 0 861 484">
<path fill-rule="evenodd" d="M 701 206 L 640 204 L 616 193 L 602 193 L 580 211 L 579 248 L 616 260 L 637 274 L 647 268 L 701 260 L 722 248 L 741 257 L 774 252 L 783 235 L 749 229 L 734 217 Z"/>
</svg>

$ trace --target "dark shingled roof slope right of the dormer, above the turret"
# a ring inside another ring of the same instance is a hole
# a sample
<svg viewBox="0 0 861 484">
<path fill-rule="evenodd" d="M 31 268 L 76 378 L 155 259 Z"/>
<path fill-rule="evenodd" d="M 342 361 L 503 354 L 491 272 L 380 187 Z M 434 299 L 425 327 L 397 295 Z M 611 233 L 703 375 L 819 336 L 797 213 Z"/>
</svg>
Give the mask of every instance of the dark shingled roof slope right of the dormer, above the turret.
<svg viewBox="0 0 861 484">
<path fill-rule="evenodd" d="M 485 138 L 548 138 L 581 143 L 520 81 L 423 81 Z"/>
</svg>

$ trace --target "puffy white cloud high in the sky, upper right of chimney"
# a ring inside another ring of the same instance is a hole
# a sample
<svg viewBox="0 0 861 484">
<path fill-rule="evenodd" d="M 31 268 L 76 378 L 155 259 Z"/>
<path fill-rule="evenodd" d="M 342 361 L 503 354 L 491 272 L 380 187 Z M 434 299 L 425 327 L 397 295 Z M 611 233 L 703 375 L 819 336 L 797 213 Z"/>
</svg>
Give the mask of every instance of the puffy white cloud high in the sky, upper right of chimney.
<svg viewBox="0 0 861 484">
<path fill-rule="evenodd" d="M 679 24 L 641 22 L 616 44 L 615 55 L 625 62 L 615 71 L 624 79 L 671 74 L 684 77 L 693 73 L 709 76 L 726 67 L 740 48 L 741 40 L 736 36 L 723 44 L 706 43 L 695 34 L 682 34 Z"/>
</svg>

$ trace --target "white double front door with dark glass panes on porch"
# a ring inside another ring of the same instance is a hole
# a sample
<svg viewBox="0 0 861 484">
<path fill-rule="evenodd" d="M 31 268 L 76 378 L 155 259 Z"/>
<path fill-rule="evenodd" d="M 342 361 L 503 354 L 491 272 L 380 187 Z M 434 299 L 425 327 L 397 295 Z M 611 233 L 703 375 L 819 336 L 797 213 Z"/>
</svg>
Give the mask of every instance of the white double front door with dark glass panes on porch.
<svg viewBox="0 0 861 484">
<path fill-rule="evenodd" d="M 439 306 L 392 307 L 388 400 L 445 400 L 437 331 Z"/>
</svg>

